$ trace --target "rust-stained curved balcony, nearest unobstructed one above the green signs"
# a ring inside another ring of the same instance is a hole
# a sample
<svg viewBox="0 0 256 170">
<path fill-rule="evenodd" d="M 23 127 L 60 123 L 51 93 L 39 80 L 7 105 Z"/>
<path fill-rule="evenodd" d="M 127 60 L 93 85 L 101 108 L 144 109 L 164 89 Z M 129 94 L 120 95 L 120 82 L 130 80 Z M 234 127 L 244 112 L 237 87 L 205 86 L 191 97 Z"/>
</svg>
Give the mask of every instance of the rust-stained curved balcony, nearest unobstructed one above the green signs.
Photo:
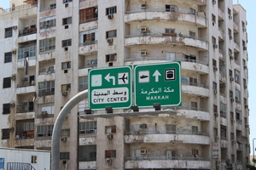
<svg viewBox="0 0 256 170">
<path fill-rule="evenodd" d="M 206 51 L 208 49 L 208 42 L 206 40 L 200 37 L 191 37 L 183 34 L 141 33 L 138 35 L 125 36 L 126 47 L 144 44 L 185 45 L 198 48 L 199 51 Z"/>
</svg>

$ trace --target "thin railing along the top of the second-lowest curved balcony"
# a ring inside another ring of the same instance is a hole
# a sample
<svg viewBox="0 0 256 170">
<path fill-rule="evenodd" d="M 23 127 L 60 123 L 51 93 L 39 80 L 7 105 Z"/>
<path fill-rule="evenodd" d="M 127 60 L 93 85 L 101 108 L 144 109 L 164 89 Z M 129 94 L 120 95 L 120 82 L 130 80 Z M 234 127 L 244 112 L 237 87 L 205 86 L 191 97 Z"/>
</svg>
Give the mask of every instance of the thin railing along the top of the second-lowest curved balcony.
<svg viewBox="0 0 256 170">
<path fill-rule="evenodd" d="M 186 135 L 201 135 L 201 136 L 209 136 L 209 133 L 201 133 L 201 132 L 186 132 L 186 131 L 133 131 L 133 132 L 125 132 L 125 135 L 136 135 L 136 134 L 186 134 Z"/>
</svg>

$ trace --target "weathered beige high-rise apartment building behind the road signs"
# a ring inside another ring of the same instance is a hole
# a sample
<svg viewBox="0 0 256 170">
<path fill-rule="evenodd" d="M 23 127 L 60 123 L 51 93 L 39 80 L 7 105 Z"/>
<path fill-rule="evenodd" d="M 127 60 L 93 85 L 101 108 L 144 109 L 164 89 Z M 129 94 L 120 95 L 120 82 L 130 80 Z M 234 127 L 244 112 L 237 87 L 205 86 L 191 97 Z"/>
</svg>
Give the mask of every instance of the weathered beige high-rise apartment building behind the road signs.
<svg viewBox="0 0 256 170">
<path fill-rule="evenodd" d="M 90 119 L 87 99 L 74 107 L 61 131 L 61 169 L 246 169 L 247 20 L 240 4 L 12 0 L 0 9 L 0 26 L 1 147 L 51 150 L 55 119 L 88 87 L 89 69 L 181 61 L 182 106 L 136 116 L 114 110 L 119 116 L 107 118 L 92 111 L 99 116 Z"/>
</svg>

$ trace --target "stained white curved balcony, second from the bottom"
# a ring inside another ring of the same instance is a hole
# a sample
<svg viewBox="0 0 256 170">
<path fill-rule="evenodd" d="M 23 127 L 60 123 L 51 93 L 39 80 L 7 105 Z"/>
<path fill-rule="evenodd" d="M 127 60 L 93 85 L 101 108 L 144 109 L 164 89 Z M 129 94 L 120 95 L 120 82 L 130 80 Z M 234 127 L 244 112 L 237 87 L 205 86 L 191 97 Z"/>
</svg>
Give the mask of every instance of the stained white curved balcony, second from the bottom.
<svg viewBox="0 0 256 170">
<path fill-rule="evenodd" d="M 125 133 L 125 144 L 132 143 L 182 143 L 210 144 L 208 133 L 135 131 Z"/>
</svg>

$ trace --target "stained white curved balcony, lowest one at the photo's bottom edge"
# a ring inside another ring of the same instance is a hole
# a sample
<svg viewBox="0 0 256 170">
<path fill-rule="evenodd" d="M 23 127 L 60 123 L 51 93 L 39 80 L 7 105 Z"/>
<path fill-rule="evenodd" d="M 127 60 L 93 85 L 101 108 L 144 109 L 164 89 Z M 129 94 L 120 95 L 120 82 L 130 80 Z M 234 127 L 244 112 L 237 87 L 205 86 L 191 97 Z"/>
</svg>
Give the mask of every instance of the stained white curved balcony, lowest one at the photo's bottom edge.
<svg viewBox="0 0 256 170">
<path fill-rule="evenodd" d="M 210 169 L 211 159 L 207 157 L 141 156 L 125 157 L 125 169 L 166 168 Z"/>
</svg>

